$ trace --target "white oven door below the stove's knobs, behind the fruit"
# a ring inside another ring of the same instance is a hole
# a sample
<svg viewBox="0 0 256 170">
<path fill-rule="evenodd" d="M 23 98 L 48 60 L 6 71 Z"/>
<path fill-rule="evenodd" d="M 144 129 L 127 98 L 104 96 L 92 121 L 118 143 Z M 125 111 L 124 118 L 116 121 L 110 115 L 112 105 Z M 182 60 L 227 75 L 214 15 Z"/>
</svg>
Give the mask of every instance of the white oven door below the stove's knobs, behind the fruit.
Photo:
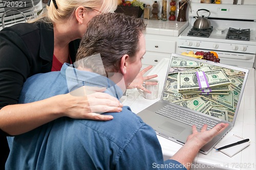
<svg viewBox="0 0 256 170">
<path fill-rule="evenodd" d="M 177 54 L 181 54 L 183 52 L 193 51 L 196 53 L 197 51 L 208 52 L 210 50 L 200 49 L 200 48 L 187 48 L 187 47 L 178 47 Z M 255 60 L 255 54 L 243 54 L 243 53 L 231 53 L 231 52 L 223 52 L 216 51 L 220 58 L 220 63 L 239 66 L 239 67 L 247 67 L 252 68 Z"/>
</svg>

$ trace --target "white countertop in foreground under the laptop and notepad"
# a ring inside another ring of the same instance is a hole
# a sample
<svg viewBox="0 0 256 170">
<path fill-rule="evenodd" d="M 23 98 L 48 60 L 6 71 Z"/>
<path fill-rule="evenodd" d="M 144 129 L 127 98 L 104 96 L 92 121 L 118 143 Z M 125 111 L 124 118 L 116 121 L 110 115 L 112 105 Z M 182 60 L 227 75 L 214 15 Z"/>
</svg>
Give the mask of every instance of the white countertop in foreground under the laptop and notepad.
<svg viewBox="0 0 256 170">
<path fill-rule="evenodd" d="M 143 98 L 137 89 L 129 89 L 126 92 L 126 96 L 123 98 L 124 105 L 130 106 L 134 113 L 138 113 L 146 107 L 157 102 L 161 98 L 161 92 L 164 84 L 165 73 L 167 70 L 169 59 L 162 59 L 148 75 L 157 74 L 155 78 L 159 81 L 159 93 L 158 99 L 146 100 Z M 255 69 L 249 68 L 249 75 L 246 82 L 241 106 L 239 108 L 239 114 L 233 129 L 223 138 L 227 138 L 232 134 L 239 135 L 243 138 L 250 139 L 250 145 L 243 151 L 228 157 L 227 155 L 216 152 L 214 149 L 208 154 L 204 155 L 198 153 L 194 160 L 194 164 L 197 165 L 191 169 L 256 169 L 256 147 L 255 147 L 255 135 L 256 135 L 256 119 L 255 119 Z M 162 147 L 164 159 L 172 157 L 181 147 L 174 141 L 168 140 L 161 136 L 158 136 L 159 142 Z M 211 167 L 211 168 L 209 168 Z M 215 167 L 215 168 L 213 168 Z"/>
</svg>

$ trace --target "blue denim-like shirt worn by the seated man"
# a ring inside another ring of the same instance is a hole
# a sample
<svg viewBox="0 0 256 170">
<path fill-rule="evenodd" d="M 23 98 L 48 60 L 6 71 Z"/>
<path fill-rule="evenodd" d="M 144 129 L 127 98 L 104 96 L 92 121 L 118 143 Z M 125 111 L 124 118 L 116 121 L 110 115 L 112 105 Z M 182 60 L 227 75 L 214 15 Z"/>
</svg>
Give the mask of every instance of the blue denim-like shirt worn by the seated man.
<svg viewBox="0 0 256 170">
<path fill-rule="evenodd" d="M 29 78 L 19 103 L 66 94 L 83 85 L 106 87 L 105 93 L 121 98 L 121 89 L 110 79 L 72 66 L 63 64 L 61 71 Z M 177 161 L 163 161 L 155 131 L 130 107 L 103 114 L 113 115 L 114 119 L 104 122 L 61 117 L 25 134 L 8 137 L 11 151 L 6 169 L 183 168 Z"/>
</svg>

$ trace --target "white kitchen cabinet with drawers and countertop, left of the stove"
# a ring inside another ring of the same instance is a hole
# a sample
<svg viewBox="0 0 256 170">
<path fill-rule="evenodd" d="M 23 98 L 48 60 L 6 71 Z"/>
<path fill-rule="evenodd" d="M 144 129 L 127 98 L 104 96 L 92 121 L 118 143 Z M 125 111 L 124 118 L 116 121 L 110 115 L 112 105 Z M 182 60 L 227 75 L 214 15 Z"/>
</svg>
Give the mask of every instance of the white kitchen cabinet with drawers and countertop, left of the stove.
<svg viewBox="0 0 256 170">
<path fill-rule="evenodd" d="M 146 54 L 142 60 L 143 68 L 157 65 L 163 58 L 176 53 L 180 33 L 188 26 L 188 21 L 147 20 L 146 23 Z"/>
</svg>

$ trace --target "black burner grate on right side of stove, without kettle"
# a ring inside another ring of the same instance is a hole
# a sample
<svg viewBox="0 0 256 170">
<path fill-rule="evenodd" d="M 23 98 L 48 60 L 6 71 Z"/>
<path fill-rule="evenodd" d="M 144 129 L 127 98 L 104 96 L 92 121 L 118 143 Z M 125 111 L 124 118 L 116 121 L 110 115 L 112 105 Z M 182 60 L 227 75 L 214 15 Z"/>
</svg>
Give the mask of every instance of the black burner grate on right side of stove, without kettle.
<svg viewBox="0 0 256 170">
<path fill-rule="evenodd" d="M 240 30 L 240 29 L 229 28 L 226 35 L 226 39 L 249 41 L 250 29 Z"/>
</svg>

